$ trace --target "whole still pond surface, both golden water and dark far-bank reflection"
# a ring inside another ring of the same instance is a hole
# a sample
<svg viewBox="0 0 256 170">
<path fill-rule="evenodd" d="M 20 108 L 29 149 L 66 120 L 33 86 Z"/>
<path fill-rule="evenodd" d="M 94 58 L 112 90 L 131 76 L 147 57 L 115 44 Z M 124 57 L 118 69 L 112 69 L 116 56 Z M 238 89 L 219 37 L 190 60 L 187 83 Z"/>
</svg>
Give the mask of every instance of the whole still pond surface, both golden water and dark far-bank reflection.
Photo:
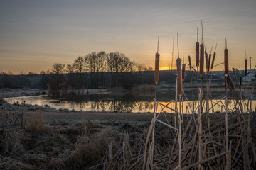
<svg viewBox="0 0 256 170">
<path fill-rule="evenodd" d="M 161 98 L 161 96 L 160 96 Z M 165 111 L 170 113 L 169 108 L 175 109 L 175 103 L 169 102 L 167 99 L 161 98 L 158 105 L 157 111 Z M 119 96 L 112 95 L 88 95 L 88 96 L 76 96 L 73 98 L 49 98 L 48 96 L 22 96 L 22 97 L 13 97 L 5 98 L 8 103 L 14 103 L 16 101 L 26 101 L 26 104 L 38 105 L 38 106 L 50 106 L 51 108 L 56 109 L 67 109 L 69 111 L 125 111 L 132 113 L 152 113 L 154 112 L 154 97 L 149 96 L 137 96 L 134 97 L 132 94 L 125 94 Z M 192 101 L 183 101 L 183 113 L 191 113 L 193 108 Z M 205 104 L 204 102 L 203 104 Z M 246 102 L 247 103 L 247 102 Z M 165 106 L 169 108 L 166 108 Z M 252 101 L 252 111 L 255 111 L 256 101 Z M 177 103 L 179 108 L 179 103 Z M 194 103 L 196 108 L 197 103 Z M 210 110 L 210 113 L 213 112 L 222 112 L 225 106 L 225 100 L 223 99 L 214 99 L 209 102 L 209 107 L 213 109 Z M 228 108 L 232 109 L 235 106 L 234 100 L 228 101 Z M 173 113 L 173 112 L 172 112 Z"/>
</svg>

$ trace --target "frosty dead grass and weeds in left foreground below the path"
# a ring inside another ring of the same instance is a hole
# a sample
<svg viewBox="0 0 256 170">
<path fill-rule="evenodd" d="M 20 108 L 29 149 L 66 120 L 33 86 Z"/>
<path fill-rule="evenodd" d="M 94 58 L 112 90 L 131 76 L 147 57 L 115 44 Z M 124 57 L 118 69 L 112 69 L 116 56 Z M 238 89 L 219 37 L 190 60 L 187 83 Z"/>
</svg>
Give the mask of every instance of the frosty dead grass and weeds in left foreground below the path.
<svg viewBox="0 0 256 170">
<path fill-rule="evenodd" d="M 1 114 L 4 112 L 1 111 Z M 117 152 L 122 132 L 139 130 L 122 121 L 46 123 L 43 112 L 19 123 L 0 125 L 0 169 L 89 169 L 100 164 L 107 149 Z"/>
</svg>

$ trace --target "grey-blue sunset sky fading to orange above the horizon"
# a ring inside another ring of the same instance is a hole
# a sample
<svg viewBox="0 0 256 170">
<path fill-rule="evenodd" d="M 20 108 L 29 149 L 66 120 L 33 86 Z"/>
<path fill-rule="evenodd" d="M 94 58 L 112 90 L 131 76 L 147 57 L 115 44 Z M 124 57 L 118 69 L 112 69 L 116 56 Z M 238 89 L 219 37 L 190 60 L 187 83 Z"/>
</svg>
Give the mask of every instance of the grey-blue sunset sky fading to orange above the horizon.
<svg viewBox="0 0 256 170">
<path fill-rule="evenodd" d="M 177 33 L 181 59 L 191 55 L 195 65 L 201 21 L 208 53 L 218 43 L 216 64 L 224 61 L 226 37 L 230 69 L 244 69 L 245 51 L 254 67 L 255 8 L 255 0 L 1 0 L 0 72 L 39 73 L 102 50 L 154 67 L 158 33 L 160 69 L 171 65 L 173 40 L 178 57 Z"/>
</svg>

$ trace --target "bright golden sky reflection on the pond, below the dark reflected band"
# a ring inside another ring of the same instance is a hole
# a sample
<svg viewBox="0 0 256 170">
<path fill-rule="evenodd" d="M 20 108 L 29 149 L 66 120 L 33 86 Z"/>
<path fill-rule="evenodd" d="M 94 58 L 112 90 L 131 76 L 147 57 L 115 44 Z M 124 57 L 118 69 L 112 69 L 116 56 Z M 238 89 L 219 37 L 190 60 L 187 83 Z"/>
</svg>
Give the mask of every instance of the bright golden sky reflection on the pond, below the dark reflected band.
<svg viewBox="0 0 256 170">
<path fill-rule="evenodd" d="M 60 101 L 57 99 L 51 99 L 47 96 L 23 96 L 14 98 L 4 98 L 8 103 L 14 103 L 16 101 L 26 101 L 26 104 L 45 106 L 48 105 L 51 108 L 56 109 L 68 109 L 75 111 L 127 111 L 134 113 L 146 113 L 154 112 L 154 102 L 152 101 Z M 246 102 L 247 103 L 247 102 Z M 175 103 L 162 102 L 162 105 L 157 105 L 157 112 L 164 111 L 166 113 L 174 113 L 170 111 L 169 108 L 175 109 Z M 198 104 L 194 102 L 196 108 Z M 256 101 L 252 101 L 252 111 L 255 111 Z M 166 108 L 168 106 L 169 108 Z M 206 111 L 206 101 L 203 101 L 204 110 Z M 213 107 L 212 107 L 213 106 Z M 235 100 L 228 101 L 228 108 L 232 109 L 235 106 Z M 210 113 L 213 112 L 223 112 L 225 111 L 225 100 L 212 100 L 209 102 Z M 238 107 L 238 106 L 236 106 Z M 179 108 L 179 103 L 177 103 L 177 108 Z M 183 101 L 181 108 L 183 113 L 191 113 L 193 108 L 192 101 Z M 230 110 L 231 111 L 231 110 Z"/>
</svg>

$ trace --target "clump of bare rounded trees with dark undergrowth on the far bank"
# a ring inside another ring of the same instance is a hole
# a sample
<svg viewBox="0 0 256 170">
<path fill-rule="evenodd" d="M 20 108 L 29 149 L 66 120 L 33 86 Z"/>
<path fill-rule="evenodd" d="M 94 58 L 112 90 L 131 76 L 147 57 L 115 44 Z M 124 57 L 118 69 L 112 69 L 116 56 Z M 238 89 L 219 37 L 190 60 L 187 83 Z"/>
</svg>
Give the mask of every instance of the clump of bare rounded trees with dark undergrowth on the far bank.
<svg viewBox="0 0 256 170">
<path fill-rule="evenodd" d="M 128 86 L 127 72 L 152 71 L 152 67 L 136 63 L 121 52 L 91 52 L 85 56 L 75 58 L 73 64 L 55 63 L 51 72 L 41 72 L 41 84 L 48 85 L 48 90 L 53 96 L 72 91 L 80 94 L 84 89 L 101 89 Z M 131 74 L 132 76 L 132 74 Z M 133 76 L 134 77 L 134 76 Z M 135 79 L 134 79 L 135 80 Z M 132 81 L 132 79 L 131 79 Z"/>
</svg>

